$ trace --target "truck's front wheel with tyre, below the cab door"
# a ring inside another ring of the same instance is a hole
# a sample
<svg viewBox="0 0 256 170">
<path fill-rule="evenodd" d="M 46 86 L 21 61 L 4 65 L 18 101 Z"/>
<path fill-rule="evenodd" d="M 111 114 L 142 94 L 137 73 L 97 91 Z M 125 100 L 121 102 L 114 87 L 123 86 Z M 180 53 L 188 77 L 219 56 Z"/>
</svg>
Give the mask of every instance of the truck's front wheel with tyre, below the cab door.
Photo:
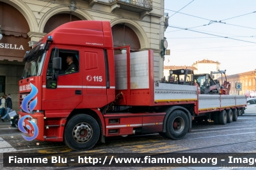
<svg viewBox="0 0 256 170">
<path fill-rule="evenodd" d="M 73 116 L 65 127 L 64 141 L 72 150 L 90 150 L 98 141 L 100 128 L 97 121 L 87 114 Z"/>
</svg>

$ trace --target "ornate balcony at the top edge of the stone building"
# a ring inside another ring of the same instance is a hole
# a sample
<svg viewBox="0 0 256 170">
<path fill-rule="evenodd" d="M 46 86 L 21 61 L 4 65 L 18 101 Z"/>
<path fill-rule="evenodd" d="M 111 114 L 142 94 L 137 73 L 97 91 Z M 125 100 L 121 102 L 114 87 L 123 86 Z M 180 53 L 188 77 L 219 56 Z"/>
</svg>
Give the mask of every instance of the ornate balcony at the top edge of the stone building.
<svg viewBox="0 0 256 170">
<path fill-rule="evenodd" d="M 150 12 L 152 11 L 152 0 L 109 0 L 111 5 L 117 4 L 122 10 L 131 12 Z"/>
</svg>

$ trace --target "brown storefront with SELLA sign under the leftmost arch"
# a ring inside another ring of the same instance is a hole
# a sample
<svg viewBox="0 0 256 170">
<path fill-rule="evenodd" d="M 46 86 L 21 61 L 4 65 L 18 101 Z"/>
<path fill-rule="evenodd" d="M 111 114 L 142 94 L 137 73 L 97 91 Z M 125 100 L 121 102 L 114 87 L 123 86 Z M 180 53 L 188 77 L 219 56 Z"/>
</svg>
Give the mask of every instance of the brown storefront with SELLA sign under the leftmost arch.
<svg viewBox="0 0 256 170">
<path fill-rule="evenodd" d="M 10 93 L 13 109 L 18 109 L 19 79 L 24 63 L 22 59 L 30 50 L 29 26 L 24 16 L 10 4 L 0 2 L 0 95 Z"/>
</svg>

